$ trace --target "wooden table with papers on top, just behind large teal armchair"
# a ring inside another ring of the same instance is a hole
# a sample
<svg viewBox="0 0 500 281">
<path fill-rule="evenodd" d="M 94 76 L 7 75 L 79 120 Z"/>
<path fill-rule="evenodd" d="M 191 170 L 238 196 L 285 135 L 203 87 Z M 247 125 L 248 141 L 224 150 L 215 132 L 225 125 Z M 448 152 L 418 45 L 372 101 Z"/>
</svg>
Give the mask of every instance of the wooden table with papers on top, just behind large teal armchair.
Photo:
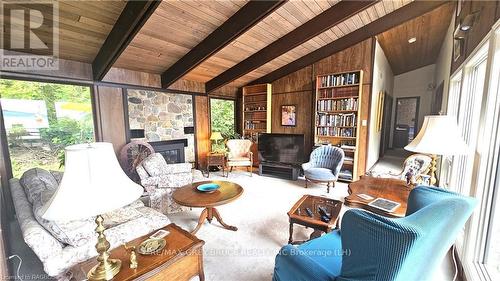
<svg viewBox="0 0 500 281">
<path fill-rule="evenodd" d="M 391 178 L 375 178 L 363 176 L 360 180 L 349 184 L 349 196 L 344 199 L 344 204 L 368 210 L 370 212 L 393 218 L 401 218 L 406 215 L 406 205 L 412 187 L 407 186 L 405 181 Z M 365 200 L 358 194 L 366 194 L 375 198 L 384 198 L 401 204 L 393 212 L 383 210 L 368 205 L 372 200 Z"/>
</svg>

